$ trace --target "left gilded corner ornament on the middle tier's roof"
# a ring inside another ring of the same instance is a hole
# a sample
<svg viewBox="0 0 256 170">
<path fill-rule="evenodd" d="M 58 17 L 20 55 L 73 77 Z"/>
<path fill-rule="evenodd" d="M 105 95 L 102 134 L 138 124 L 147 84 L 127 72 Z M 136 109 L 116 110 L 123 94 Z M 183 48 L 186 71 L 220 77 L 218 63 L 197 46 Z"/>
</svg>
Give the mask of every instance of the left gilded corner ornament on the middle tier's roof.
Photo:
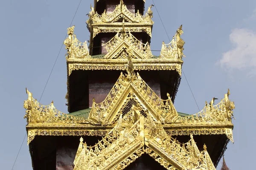
<svg viewBox="0 0 256 170">
<path fill-rule="evenodd" d="M 87 47 L 87 42 L 80 42 L 77 40 L 76 35 L 74 35 L 74 28 L 75 26 L 72 26 L 70 28 L 67 28 L 67 34 L 68 37 L 64 40 L 64 44 L 66 45 L 67 54 L 66 58 L 70 59 L 85 59 L 85 58 L 91 58 L 89 55 L 89 50 Z"/>
</svg>

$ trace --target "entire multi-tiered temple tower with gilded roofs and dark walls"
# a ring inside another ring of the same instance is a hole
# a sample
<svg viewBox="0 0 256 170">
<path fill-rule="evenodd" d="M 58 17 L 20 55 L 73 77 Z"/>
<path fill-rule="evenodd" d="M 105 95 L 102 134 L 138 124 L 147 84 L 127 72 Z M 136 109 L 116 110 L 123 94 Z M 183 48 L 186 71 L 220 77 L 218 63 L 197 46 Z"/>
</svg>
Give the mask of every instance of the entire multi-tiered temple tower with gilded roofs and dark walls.
<svg viewBox="0 0 256 170">
<path fill-rule="evenodd" d="M 214 170 L 233 142 L 228 91 L 202 111 L 176 111 L 183 64 L 180 26 L 151 53 L 152 6 L 145 0 L 94 0 L 89 46 L 67 29 L 67 106 L 24 102 L 34 170 Z M 161 45 L 160 45 L 161 46 Z"/>
</svg>

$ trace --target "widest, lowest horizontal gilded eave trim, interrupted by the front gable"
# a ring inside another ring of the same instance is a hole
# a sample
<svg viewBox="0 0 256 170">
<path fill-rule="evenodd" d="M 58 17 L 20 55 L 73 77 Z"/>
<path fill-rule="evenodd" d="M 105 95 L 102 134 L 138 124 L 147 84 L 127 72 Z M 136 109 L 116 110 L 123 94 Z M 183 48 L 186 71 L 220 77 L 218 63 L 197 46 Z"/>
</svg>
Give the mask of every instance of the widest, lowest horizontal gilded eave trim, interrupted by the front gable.
<svg viewBox="0 0 256 170">
<path fill-rule="evenodd" d="M 78 123 L 30 123 L 26 125 L 26 130 L 29 144 L 35 136 L 105 136 L 113 127 L 114 125 Z M 204 125 L 172 123 L 163 124 L 163 128 L 169 136 L 225 134 L 233 142 L 233 124 L 230 122 L 204 123 Z"/>
</svg>

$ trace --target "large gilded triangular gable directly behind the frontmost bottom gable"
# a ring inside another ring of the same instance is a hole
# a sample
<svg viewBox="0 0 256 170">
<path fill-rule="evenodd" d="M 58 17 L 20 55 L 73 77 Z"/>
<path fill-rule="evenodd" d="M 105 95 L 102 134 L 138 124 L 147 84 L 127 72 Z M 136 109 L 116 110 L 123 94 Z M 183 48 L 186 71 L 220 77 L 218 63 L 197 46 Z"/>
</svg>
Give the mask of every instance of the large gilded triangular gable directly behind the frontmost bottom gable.
<svg viewBox="0 0 256 170">
<path fill-rule="evenodd" d="M 127 107 L 131 98 L 134 103 Z M 133 105 L 162 123 L 178 116 L 171 99 L 160 99 L 138 73 L 131 80 L 121 73 L 106 99 L 99 104 L 93 102 L 88 120 L 94 124 L 113 125 L 116 116 L 125 113 L 125 107 L 129 112 Z"/>
</svg>

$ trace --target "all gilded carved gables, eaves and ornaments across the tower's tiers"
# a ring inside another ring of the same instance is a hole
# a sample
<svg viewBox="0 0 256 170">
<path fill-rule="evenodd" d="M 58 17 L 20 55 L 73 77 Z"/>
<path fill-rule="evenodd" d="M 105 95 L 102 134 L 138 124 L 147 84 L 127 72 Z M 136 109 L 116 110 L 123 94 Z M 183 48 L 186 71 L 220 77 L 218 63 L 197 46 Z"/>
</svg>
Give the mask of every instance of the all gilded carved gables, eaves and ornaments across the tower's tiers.
<svg viewBox="0 0 256 170">
<path fill-rule="evenodd" d="M 178 115 L 169 94 L 163 100 L 154 93 L 136 71 L 173 70 L 181 76 L 185 42 L 180 37 L 180 26 L 169 44 L 163 42 L 160 56 L 156 57 L 148 42 L 143 44 L 131 34 L 146 32 L 151 37 L 151 7 L 144 16 L 137 11 L 132 14 L 122 0 L 112 13 L 99 15 L 91 7 L 87 20 L 90 50 L 86 41 L 76 38 L 75 26 L 67 29 L 67 100 L 69 77 L 74 70 L 122 70 L 127 74 L 120 74 L 104 101 L 93 100 L 88 119 L 62 113 L 53 102 L 41 105 L 26 90 L 28 144 L 35 136 L 102 136 L 94 146 L 87 146 L 80 139 L 75 170 L 122 170 L 142 154 L 148 154 L 168 170 L 215 170 L 207 147 L 204 145 L 204 150 L 199 151 L 193 136 L 225 134 L 233 142 L 231 119 L 235 105 L 229 99 L 230 91 L 217 105 L 213 98 L 202 111 L 185 117 Z M 102 45 L 107 54 L 97 58 L 90 55 L 93 37 L 102 32 L 115 32 L 116 36 Z M 175 135 L 189 135 L 191 139 L 182 144 L 172 138 Z"/>
</svg>

